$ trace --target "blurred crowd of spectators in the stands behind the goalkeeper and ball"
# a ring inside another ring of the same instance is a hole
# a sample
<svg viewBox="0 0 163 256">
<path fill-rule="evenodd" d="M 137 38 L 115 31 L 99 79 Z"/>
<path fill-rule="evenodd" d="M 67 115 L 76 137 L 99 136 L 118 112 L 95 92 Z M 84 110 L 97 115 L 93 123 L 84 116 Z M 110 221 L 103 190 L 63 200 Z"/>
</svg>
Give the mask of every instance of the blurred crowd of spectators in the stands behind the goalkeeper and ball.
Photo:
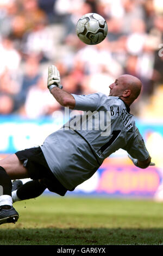
<svg viewBox="0 0 163 256">
<path fill-rule="evenodd" d="M 101 44 L 76 35 L 86 13 L 108 23 Z M 47 89 L 54 64 L 74 94 L 109 94 L 121 74 L 139 77 L 143 90 L 131 113 L 163 118 L 162 56 L 162 0 L 0 0 L 0 114 L 40 118 L 61 110 Z"/>
</svg>

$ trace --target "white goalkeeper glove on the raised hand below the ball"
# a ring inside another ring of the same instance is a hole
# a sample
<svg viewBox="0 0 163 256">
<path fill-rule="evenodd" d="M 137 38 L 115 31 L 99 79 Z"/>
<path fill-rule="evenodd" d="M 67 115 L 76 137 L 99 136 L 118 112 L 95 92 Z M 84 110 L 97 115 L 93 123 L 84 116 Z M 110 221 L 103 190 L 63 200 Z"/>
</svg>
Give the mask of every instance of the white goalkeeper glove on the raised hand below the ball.
<svg viewBox="0 0 163 256">
<path fill-rule="evenodd" d="M 60 84 L 60 73 L 56 66 L 51 65 L 48 67 L 48 89 L 51 90 L 54 87 L 62 89 L 63 87 Z"/>
</svg>

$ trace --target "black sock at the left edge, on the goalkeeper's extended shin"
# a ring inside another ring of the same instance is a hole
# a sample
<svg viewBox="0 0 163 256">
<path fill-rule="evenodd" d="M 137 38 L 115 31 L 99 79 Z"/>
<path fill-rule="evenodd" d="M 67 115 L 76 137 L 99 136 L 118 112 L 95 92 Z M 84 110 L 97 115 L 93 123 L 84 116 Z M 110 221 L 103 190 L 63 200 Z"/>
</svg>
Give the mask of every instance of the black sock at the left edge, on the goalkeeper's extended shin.
<svg viewBox="0 0 163 256">
<path fill-rule="evenodd" d="M 0 185 L 2 186 L 1 196 L 2 194 L 8 194 L 9 196 L 11 196 L 12 182 L 9 178 L 9 175 L 5 171 L 5 169 L 1 166 L 0 166 Z"/>
</svg>

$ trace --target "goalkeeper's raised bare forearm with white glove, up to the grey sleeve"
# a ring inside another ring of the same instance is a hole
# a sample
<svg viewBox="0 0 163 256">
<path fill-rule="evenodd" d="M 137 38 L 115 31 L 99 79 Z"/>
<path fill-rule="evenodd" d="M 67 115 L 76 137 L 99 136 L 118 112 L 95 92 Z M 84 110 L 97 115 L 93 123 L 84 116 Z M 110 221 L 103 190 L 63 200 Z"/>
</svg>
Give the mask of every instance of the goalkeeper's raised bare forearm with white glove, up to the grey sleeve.
<svg viewBox="0 0 163 256">
<path fill-rule="evenodd" d="M 60 85 L 60 73 L 57 67 L 54 65 L 48 67 L 47 87 L 54 96 L 55 100 L 57 100 L 61 106 L 70 107 L 71 109 L 75 107 L 76 100 L 70 93 L 62 90 L 62 86 Z"/>
</svg>

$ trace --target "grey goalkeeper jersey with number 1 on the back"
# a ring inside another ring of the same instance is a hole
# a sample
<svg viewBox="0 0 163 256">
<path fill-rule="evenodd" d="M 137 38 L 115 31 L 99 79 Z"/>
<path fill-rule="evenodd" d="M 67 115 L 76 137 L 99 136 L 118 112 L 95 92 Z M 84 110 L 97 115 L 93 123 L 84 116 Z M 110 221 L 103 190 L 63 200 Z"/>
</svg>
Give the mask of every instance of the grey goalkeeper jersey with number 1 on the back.
<svg viewBox="0 0 163 256">
<path fill-rule="evenodd" d="M 74 109 L 83 114 L 70 119 L 41 146 L 49 168 L 68 190 L 89 179 L 104 159 L 120 148 L 135 159 L 148 158 L 134 116 L 119 97 L 72 95 Z"/>
</svg>

